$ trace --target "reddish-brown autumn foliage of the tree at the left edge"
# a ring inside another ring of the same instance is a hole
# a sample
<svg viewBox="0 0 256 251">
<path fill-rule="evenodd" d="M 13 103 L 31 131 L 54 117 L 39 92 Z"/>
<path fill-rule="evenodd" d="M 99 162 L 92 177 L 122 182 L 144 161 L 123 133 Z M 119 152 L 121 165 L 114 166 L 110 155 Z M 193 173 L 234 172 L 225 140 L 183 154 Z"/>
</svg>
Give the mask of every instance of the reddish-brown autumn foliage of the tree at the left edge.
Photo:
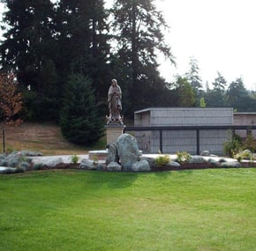
<svg viewBox="0 0 256 251">
<path fill-rule="evenodd" d="M 18 114 L 22 109 L 22 96 L 13 73 L 0 73 L 0 118 L 4 122 L 19 124 Z"/>
</svg>

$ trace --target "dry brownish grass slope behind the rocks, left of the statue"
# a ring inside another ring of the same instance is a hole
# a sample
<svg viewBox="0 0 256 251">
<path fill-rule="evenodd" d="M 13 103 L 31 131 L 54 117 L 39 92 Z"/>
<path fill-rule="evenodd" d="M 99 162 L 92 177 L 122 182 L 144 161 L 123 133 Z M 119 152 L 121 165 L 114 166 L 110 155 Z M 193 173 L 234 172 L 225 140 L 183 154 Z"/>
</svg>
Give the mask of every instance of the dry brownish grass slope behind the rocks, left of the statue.
<svg viewBox="0 0 256 251">
<path fill-rule="evenodd" d="M 3 137 L 1 131 L 1 147 Z M 105 149 L 106 139 L 92 146 L 78 146 L 64 139 L 61 129 L 54 123 L 24 122 L 18 127 L 5 128 L 5 151 L 41 151 L 44 155 L 85 154 L 91 149 Z"/>
</svg>

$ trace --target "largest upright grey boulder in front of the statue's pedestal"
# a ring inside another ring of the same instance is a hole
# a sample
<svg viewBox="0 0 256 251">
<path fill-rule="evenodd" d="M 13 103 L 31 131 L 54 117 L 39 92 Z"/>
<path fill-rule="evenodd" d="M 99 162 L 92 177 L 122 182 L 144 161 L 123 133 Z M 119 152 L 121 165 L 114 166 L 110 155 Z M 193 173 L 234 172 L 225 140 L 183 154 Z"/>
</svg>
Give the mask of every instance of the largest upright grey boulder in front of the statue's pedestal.
<svg viewBox="0 0 256 251">
<path fill-rule="evenodd" d="M 135 137 L 124 133 L 117 138 L 117 154 L 124 171 L 139 160 L 139 146 Z"/>
</svg>

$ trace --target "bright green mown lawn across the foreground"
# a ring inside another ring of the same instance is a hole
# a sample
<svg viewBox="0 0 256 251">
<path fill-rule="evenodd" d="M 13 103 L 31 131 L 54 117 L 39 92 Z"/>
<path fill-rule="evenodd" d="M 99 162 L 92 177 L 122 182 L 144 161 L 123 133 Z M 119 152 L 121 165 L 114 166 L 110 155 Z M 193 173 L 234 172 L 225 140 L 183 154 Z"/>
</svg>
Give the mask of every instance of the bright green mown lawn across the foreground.
<svg viewBox="0 0 256 251">
<path fill-rule="evenodd" d="M 0 176 L 0 250 L 256 250 L 256 169 Z"/>
</svg>

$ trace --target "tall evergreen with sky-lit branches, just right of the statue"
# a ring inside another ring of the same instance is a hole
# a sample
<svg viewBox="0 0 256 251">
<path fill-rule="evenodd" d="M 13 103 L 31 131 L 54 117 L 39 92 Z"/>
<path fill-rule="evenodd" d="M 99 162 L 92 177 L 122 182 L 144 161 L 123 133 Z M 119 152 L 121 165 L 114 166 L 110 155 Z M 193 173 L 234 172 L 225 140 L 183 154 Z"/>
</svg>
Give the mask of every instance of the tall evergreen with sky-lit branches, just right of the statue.
<svg viewBox="0 0 256 251">
<path fill-rule="evenodd" d="M 114 52 L 118 58 L 115 63 L 119 65 L 119 78 L 127 88 L 130 112 L 148 104 L 162 104 L 165 83 L 157 70 L 157 54 L 161 52 L 173 62 L 170 48 L 164 43 L 162 30 L 167 25 L 162 13 L 151 0 L 116 0 L 112 13 L 117 44 Z M 145 95 L 146 92 L 154 95 Z"/>
</svg>

